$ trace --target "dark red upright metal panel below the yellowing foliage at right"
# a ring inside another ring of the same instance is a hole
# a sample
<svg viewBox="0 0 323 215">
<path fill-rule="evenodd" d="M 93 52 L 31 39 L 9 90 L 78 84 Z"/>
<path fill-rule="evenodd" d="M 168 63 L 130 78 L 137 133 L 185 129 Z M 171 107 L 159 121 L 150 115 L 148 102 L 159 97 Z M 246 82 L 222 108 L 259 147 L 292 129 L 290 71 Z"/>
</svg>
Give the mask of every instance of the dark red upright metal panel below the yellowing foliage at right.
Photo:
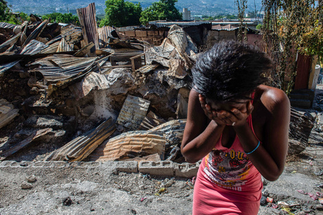
<svg viewBox="0 0 323 215">
<path fill-rule="evenodd" d="M 294 89 L 308 89 L 311 61 L 312 61 L 311 56 L 298 54 L 297 73 L 296 73 Z"/>
</svg>

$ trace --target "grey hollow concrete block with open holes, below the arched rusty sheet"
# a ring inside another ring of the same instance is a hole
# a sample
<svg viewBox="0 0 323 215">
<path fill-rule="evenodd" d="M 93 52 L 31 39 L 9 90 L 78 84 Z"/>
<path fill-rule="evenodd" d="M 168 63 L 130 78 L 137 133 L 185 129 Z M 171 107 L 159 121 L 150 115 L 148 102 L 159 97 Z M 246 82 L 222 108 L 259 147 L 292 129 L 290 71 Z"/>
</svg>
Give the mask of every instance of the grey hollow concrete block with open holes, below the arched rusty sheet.
<svg viewBox="0 0 323 215">
<path fill-rule="evenodd" d="M 174 176 L 174 163 L 172 161 L 141 161 L 138 170 L 143 174 Z"/>
</svg>

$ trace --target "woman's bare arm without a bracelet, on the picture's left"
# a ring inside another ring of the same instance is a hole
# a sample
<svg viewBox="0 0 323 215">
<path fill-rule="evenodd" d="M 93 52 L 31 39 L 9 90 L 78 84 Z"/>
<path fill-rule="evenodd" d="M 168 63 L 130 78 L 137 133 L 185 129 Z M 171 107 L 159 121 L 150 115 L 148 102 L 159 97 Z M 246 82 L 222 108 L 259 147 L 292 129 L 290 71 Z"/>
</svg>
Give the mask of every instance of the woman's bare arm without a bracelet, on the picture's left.
<svg viewBox="0 0 323 215">
<path fill-rule="evenodd" d="M 208 155 L 221 137 L 224 127 L 216 124 L 214 120 L 208 124 L 208 117 L 199 101 L 199 93 L 192 89 L 188 98 L 188 119 L 181 143 L 181 153 L 186 161 L 195 163 Z"/>
</svg>

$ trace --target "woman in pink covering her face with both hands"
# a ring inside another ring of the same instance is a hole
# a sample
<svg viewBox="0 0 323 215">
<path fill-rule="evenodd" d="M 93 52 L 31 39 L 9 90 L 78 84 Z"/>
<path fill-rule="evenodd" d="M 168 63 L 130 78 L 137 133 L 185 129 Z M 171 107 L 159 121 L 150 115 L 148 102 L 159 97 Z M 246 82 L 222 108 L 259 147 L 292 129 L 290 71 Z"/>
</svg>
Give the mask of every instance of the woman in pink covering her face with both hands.
<svg viewBox="0 0 323 215">
<path fill-rule="evenodd" d="M 263 183 L 278 179 L 287 155 L 290 104 L 263 85 L 271 60 L 252 45 L 221 42 L 192 69 L 194 87 L 181 144 L 202 159 L 193 214 L 258 214 Z"/>
</svg>

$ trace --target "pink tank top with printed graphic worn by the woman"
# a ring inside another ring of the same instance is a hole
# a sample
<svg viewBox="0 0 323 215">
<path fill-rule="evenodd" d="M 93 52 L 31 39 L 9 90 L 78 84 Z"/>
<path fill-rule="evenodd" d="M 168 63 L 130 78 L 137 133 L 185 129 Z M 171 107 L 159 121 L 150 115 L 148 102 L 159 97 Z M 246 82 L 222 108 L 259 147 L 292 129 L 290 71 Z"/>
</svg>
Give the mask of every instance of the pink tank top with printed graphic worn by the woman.
<svg viewBox="0 0 323 215">
<path fill-rule="evenodd" d="M 249 115 L 247 122 L 254 132 L 252 115 Z M 236 135 L 230 148 L 222 146 L 221 137 L 214 149 L 202 160 L 204 177 L 221 188 L 237 192 L 259 192 L 263 188 L 261 175 L 249 161 L 238 136 Z"/>
</svg>

